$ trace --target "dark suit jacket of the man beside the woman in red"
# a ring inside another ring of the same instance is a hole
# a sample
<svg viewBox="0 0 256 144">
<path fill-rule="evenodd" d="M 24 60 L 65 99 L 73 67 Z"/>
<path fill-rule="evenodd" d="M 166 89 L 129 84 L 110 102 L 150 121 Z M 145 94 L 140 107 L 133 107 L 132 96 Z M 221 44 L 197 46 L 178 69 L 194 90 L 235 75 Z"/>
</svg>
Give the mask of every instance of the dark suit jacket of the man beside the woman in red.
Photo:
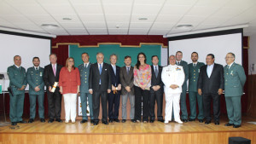
<svg viewBox="0 0 256 144">
<path fill-rule="evenodd" d="M 52 87 L 55 84 L 55 82 L 59 82 L 61 68 L 62 66 L 57 64 L 56 75 L 55 75 L 51 64 L 44 66 L 44 84 L 46 85 L 46 90 L 49 91 L 49 86 Z M 60 88 L 56 87 L 55 91 L 59 91 L 59 90 Z"/>
</svg>

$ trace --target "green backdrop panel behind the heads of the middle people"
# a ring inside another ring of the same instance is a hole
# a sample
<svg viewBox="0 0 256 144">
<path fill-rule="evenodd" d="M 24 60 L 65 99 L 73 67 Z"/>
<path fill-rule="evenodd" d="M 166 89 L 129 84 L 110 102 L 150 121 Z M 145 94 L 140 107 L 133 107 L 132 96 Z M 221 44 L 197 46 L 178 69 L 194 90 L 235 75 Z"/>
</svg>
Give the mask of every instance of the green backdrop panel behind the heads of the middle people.
<svg viewBox="0 0 256 144">
<path fill-rule="evenodd" d="M 120 47 L 119 44 L 102 44 L 98 48 L 79 48 L 78 45 L 69 45 L 69 56 L 75 60 L 75 66 L 83 63 L 81 59 L 82 53 L 90 55 L 90 62 L 96 62 L 96 53 L 102 52 L 104 54 L 104 62 L 110 63 L 109 56 L 112 54 L 118 55 L 117 66 L 125 66 L 124 58 L 126 55 L 131 56 L 131 66 L 137 63 L 137 54 L 143 52 L 147 56 L 147 63 L 151 65 L 151 56 L 157 55 L 161 60 L 161 46 L 160 45 L 142 45 L 140 48 L 135 47 Z M 161 63 L 159 61 L 159 63 Z"/>
</svg>

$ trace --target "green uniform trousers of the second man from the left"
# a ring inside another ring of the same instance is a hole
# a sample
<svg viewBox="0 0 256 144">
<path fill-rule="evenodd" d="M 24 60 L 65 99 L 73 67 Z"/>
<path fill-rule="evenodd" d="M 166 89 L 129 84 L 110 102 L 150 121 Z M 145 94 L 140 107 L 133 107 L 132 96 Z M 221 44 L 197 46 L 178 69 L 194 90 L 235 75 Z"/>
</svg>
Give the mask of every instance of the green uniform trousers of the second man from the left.
<svg viewBox="0 0 256 144">
<path fill-rule="evenodd" d="M 29 95 L 30 103 L 30 118 L 36 117 L 36 103 L 38 98 L 38 115 L 39 118 L 44 118 L 44 94 L 41 95 Z"/>
</svg>

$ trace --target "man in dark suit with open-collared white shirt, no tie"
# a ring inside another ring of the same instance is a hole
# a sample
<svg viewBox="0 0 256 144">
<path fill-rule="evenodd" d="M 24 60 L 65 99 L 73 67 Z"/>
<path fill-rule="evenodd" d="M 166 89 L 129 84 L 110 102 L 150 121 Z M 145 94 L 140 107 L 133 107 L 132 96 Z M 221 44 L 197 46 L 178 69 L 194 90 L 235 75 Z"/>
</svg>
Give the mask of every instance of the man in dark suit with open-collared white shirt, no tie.
<svg viewBox="0 0 256 144">
<path fill-rule="evenodd" d="M 205 124 L 210 124 L 211 103 L 213 101 L 213 115 L 215 125 L 219 124 L 220 95 L 224 89 L 224 68 L 214 63 L 214 55 L 207 55 L 207 65 L 201 66 L 198 78 L 198 94 L 203 97 Z"/>
</svg>

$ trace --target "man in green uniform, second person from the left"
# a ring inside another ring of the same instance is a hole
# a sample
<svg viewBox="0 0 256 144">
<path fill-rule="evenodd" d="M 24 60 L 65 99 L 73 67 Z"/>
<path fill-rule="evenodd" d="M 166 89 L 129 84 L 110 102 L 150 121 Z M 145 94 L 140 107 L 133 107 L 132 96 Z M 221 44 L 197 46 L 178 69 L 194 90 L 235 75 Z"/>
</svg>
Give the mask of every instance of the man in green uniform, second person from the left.
<svg viewBox="0 0 256 144">
<path fill-rule="evenodd" d="M 40 60 L 34 57 L 32 67 L 26 71 L 26 81 L 29 84 L 30 118 L 28 123 L 32 123 L 36 117 L 36 102 L 38 97 L 38 115 L 42 123 L 44 120 L 44 68 L 40 67 Z"/>
</svg>

